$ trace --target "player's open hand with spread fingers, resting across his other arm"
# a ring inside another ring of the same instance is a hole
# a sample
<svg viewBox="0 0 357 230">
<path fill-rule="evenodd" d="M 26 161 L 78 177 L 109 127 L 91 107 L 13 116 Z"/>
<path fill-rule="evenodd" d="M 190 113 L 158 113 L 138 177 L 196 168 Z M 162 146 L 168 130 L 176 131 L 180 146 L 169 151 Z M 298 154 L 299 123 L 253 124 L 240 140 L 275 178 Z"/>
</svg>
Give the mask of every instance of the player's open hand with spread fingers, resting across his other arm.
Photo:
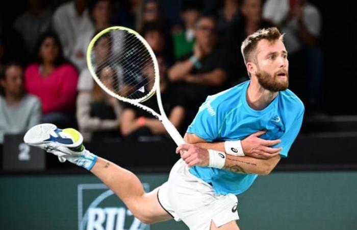
<svg viewBox="0 0 357 230">
<path fill-rule="evenodd" d="M 280 154 L 282 148 L 271 148 L 281 142 L 281 140 L 264 140 L 259 138 L 266 131 L 258 131 L 241 141 L 244 155 L 260 159 L 269 159 Z"/>
</svg>

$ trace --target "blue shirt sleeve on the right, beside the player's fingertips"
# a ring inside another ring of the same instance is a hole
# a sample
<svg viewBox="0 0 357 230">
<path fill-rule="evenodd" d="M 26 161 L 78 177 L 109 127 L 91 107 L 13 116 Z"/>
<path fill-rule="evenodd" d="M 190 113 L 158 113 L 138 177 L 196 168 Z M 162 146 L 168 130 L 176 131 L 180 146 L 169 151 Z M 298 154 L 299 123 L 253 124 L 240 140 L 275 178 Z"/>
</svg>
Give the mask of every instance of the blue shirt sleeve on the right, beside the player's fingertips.
<svg viewBox="0 0 357 230">
<path fill-rule="evenodd" d="M 274 146 L 274 148 L 282 147 L 281 155 L 283 157 L 288 156 L 288 152 L 290 150 L 291 145 L 295 141 L 297 134 L 300 131 L 301 124 L 302 124 L 302 118 L 303 118 L 303 112 L 300 114 L 300 116 L 291 124 L 291 126 L 288 128 L 288 130 L 283 134 L 281 137 L 281 143 L 277 144 Z"/>
</svg>

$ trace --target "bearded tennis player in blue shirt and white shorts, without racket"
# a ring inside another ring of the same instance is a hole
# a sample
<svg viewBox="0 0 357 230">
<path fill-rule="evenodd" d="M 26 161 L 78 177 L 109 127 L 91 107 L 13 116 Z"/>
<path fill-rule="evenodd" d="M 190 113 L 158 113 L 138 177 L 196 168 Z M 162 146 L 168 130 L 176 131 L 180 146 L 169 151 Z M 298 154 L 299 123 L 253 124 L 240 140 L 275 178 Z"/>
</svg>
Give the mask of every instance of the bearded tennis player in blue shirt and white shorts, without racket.
<svg viewBox="0 0 357 230">
<path fill-rule="evenodd" d="M 77 130 L 41 124 L 24 141 L 90 170 L 144 223 L 174 218 L 193 230 L 239 229 L 236 195 L 288 155 L 304 112 L 287 89 L 289 62 L 276 28 L 249 35 L 241 51 L 250 80 L 207 98 L 168 181 L 150 193 L 132 172 L 86 150 Z"/>
</svg>

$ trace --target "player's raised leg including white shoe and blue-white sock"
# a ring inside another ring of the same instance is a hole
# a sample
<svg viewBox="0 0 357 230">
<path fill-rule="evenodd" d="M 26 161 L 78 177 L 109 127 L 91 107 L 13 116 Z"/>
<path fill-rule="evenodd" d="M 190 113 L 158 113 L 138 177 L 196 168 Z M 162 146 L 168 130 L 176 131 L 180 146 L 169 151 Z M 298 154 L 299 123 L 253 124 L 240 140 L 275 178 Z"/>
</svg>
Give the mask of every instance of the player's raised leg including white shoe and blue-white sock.
<svg viewBox="0 0 357 230">
<path fill-rule="evenodd" d="M 56 155 L 60 162 L 67 160 L 90 170 L 142 222 L 154 223 L 171 219 L 159 203 L 158 189 L 146 194 L 140 180 L 132 172 L 86 150 L 79 131 L 72 128 L 62 130 L 54 124 L 39 124 L 25 133 L 23 141 Z"/>
</svg>

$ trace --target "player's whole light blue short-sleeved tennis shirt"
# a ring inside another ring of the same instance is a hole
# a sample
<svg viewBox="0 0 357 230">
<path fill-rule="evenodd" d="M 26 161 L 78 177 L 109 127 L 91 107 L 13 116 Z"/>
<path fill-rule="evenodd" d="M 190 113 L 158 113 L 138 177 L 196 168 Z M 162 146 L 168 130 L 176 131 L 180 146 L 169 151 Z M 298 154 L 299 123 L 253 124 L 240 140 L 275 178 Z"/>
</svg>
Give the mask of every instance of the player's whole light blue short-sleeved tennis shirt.
<svg viewBox="0 0 357 230">
<path fill-rule="evenodd" d="M 279 91 L 277 97 L 263 110 L 249 107 L 246 92 L 250 81 L 227 89 L 204 102 L 188 127 L 207 142 L 243 140 L 250 134 L 267 130 L 260 136 L 265 140 L 280 139 L 273 147 L 283 147 L 281 155 L 286 157 L 300 130 L 304 106 L 289 89 Z M 241 194 L 257 178 L 257 174 L 242 174 L 210 168 L 192 167 L 190 172 L 202 180 L 212 183 L 217 194 Z"/>
</svg>

